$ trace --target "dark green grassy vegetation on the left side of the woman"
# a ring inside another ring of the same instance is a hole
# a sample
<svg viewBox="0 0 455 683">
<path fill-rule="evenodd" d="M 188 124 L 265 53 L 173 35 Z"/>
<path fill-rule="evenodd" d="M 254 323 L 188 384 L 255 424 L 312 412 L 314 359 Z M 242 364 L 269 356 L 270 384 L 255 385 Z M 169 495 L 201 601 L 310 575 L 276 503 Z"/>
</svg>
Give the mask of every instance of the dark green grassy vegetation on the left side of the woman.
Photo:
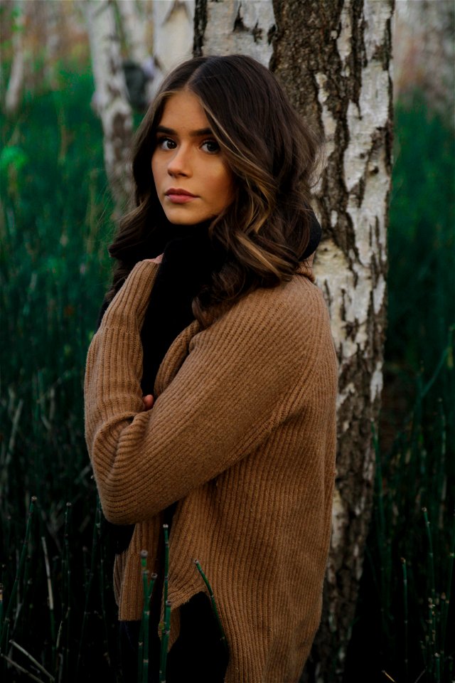
<svg viewBox="0 0 455 683">
<path fill-rule="evenodd" d="M 112 205 L 101 125 L 90 109 L 92 78 L 62 73 L 60 82 L 63 90 L 26 97 L 16 120 L 0 122 L 0 582 L 8 605 L 28 502 L 35 495 L 37 512 L 17 593 L 21 610 L 9 635 L 51 672 L 58 667 L 66 681 L 80 679 L 84 671 L 83 662 L 77 670 L 81 642 L 92 679 L 108 675 L 105 640 L 98 635 L 101 606 L 96 598 L 85 604 L 89 586 L 91 595 L 100 593 L 95 583 L 102 577 L 94 578 L 95 552 L 88 550 L 96 497 L 83 434 L 82 381 L 110 277 Z M 41 536 L 50 555 L 54 638 Z M 99 529 L 94 548 L 98 536 Z M 98 556 L 96 567 L 99 562 Z M 106 595 L 112 603 L 112 588 Z M 14 659 L 30 667 L 20 652 Z M 2 680 L 2 672 L 11 677 L 14 671 L 4 669 L 1 660 Z"/>
</svg>

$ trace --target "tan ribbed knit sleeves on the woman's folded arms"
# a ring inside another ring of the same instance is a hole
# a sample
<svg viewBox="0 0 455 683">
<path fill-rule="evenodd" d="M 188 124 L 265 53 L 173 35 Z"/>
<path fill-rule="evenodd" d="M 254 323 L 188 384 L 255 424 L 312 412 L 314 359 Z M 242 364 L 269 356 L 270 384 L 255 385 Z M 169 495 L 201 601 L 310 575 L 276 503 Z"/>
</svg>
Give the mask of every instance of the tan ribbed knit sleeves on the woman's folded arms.
<svg viewBox="0 0 455 683">
<path fill-rule="evenodd" d="M 258 290 L 193 337 L 144 412 L 140 328 L 156 270 L 135 266 L 87 356 L 87 445 L 103 511 L 116 524 L 151 519 L 267 438 L 296 378 L 304 384 L 314 371 L 326 329 L 314 285 L 297 306 L 285 285 Z"/>
</svg>

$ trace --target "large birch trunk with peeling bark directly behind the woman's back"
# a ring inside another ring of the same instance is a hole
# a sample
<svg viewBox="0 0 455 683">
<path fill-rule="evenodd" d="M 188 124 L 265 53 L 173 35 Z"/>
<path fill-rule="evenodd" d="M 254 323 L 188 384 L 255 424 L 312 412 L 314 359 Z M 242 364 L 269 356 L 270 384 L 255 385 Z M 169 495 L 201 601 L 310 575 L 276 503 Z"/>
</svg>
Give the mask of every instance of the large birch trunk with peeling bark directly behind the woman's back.
<svg viewBox="0 0 455 683">
<path fill-rule="evenodd" d="M 338 460 L 323 618 L 304 680 L 341 681 L 373 497 L 385 330 L 393 0 L 196 0 L 195 52 L 247 53 L 326 138 L 315 269 L 339 361 Z M 269 45 L 271 41 L 272 46 Z M 273 48 L 273 51 L 271 49 Z M 298 530 L 296 530 L 298 533 Z"/>
</svg>

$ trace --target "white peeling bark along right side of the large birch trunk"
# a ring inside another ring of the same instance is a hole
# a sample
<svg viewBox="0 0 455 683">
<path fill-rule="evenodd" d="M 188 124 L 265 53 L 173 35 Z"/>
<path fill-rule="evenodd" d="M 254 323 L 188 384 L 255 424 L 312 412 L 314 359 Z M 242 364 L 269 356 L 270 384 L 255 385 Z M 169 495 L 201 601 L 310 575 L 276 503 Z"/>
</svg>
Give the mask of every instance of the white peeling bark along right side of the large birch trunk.
<svg viewBox="0 0 455 683">
<path fill-rule="evenodd" d="M 340 27 L 336 39 L 341 60 L 341 74 L 349 78 L 349 59 L 353 49 L 351 2 L 345 0 L 341 11 Z M 390 148 L 383 132 L 390 129 L 391 79 L 390 64 L 384 67 L 382 49 L 390 24 L 392 4 L 387 0 L 366 1 L 363 6 L 364 62 L 360 73 L 358 93 L 350 98 L 346 112 L 348 144 L 343 150 L 341 174 L 347 192 L 347 203 L 343 207 L 344 220 L 353 225 L 353 242 L 346 251 L 340 250 L 333 238 L 325 240 L 316 260 L 316 275 L 328 302 L 333 335 L 336 339 L 340 361 L 341 385 L 338 394 L 339 435 L 349 440 L 353 422 L 362 419 L 356 414 L 357 401 L 353 398 L 359 391 L 353 379 L 348 380 L 350 367 L 358 365 L 355 359 L 369 359 L 368 383 L 363 382 L 365 418 L 377 415 L 382 391 L 382 349 L 383 317 L 385 310 L 385 272 L 387 265 L 387 208 L 390 192 Z M 319 102 L 321 120 L 328 141 L 328 156 L 335 144 L 332 112 L 326 106 L 329 92 L 325 83 L 328 73 L 319 72 L 316 80 L 320 85 Z M 330 197 L 322 201 L 330 203 Z M 338 231 L 338 207 L 332 206 L 331 227 Z M 375 329 L 376 328 L 376 329 Z M 371 408 L 373 412 L 371 412 Z M 366 425 L 365 425 L 366 426 Z M 331 586 L 331 623 L 336 629 L 340 600 L 337 573 L 346 563 L 342 551 L 348 534 L 348 524 L 353 516 L 370 516 L 371 489 L 375 470 L 373 445 L 363 452 L 362 467 L 358 476 L 364 485 L 358 489 L 355 502 L 343 494 L 338 487 L 333 507 L 333 534 L 331 557 L 328 566 L 328 581 Z M 340 464 L 341 467 L 342 463 Z M 347 472 L 338 472 L 346 477 Z M 354 503 L 354 504 L 353 504 Z M 350 544 L 352 568 L 355 580 L 359 581 L 363 567 L 363 543 L 359 535 Z M 341 552 L 340 552 L 341 551 Z M 342 600 L 342 598 L 341 598 Z"/>
</svg>

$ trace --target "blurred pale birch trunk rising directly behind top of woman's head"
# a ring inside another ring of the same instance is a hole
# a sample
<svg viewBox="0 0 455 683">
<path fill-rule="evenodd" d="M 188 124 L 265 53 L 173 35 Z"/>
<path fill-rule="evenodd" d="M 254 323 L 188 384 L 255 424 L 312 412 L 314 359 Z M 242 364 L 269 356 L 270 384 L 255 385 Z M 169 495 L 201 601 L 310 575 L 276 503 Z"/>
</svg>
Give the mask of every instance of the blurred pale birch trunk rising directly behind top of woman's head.
<svg viewBox="0 0 455 683">
<path fill-rule="evenodd" d="M 194 0 L 154 0 L 153 92 L 178 63 L 193 55 Z"/>
</svg>

